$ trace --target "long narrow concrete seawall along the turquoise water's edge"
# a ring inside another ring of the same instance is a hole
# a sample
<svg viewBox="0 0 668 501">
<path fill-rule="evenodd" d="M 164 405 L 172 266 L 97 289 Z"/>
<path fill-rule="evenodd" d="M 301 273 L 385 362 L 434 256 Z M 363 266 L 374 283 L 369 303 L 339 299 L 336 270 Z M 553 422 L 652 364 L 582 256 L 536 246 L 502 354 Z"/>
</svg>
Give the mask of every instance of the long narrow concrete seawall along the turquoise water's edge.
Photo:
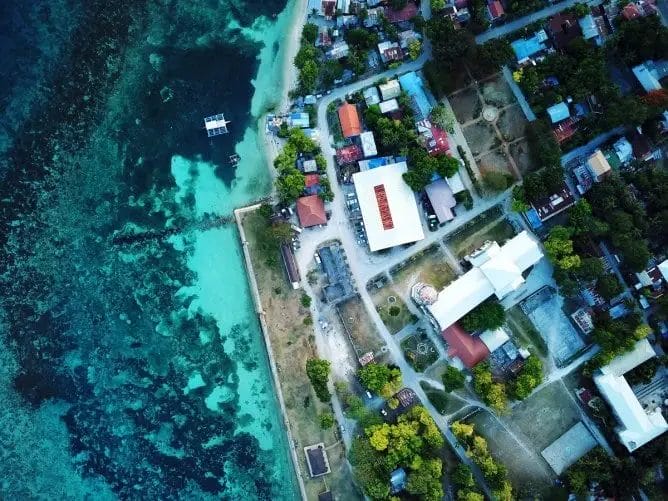
<svg viewBox="0 0 668 501">
<path fill-rule="evenodd" d="M 301 475 L 301 470 L 299 468 L 299 458 L 297 457 L 297 452 L 294 448 L 294 438 L 292 437 L 292 432 L 290 431 L 290 421 L 288 420 L 288 413 L 285 410 L 285 401 L 283 400 L 283 391 L 281 390 L 281 383 L 278 379 L 278 370 L 276 368 L 276 361 L 274 359 L 274 351 L 271 346 L 271 339 L 269 338 L 269 328 L 267 327 L 267 322 L 264 317 L 264 308 L 262 307 L 262 299 L 260 298 L 260 290 L 257 286 L 257 279 L 255 278 L 255 271 L 253 270 L 253 262 L 251 261 L 250 251 L 248 250 L 248 241 L 246 240 L 246 232 L 244 231 L 243 225 L 241 224 L 242 217 L 247 212 L 253 212 L 260 207 L 261 204 L 249 205 L 248 207 L 242 207 L 234 211 L 234 218 L 237 222 L 237 228 L 239 229 L 239 237 L 241 239 L 241 247 L 244 252 L 244 262 L 246 263 L 246 273 L 248 274 L 248 283 L 250 285 L 251 292 L 253 294 L 253 302 L 255 303 L 255 311 L 257 313 L 258 320 L 260 321 L 260 328 L 262 329 L 262 335 L 264 336 L 264 344 L 267 348 L 267 355 L 269 357 L 269 366 L 271 367 L 271 374 L 274 381 L 274 389 L 276 395 L 278 396 L 278 402 L 281 407 L 281 414 L 283 416 L 283 426 L 285 433 L 288 437 L 289 447 L 290 447 L 290 457 L 292 458 L 292 465 L 295 469 L 295 475 L 297 476 L 297 482 L 299 483 L 299 490 L 301 492 L 301 497 L 303 501 L 306 501 L 306 488 L 304 487 L 304 480 Z"/>
</svg>

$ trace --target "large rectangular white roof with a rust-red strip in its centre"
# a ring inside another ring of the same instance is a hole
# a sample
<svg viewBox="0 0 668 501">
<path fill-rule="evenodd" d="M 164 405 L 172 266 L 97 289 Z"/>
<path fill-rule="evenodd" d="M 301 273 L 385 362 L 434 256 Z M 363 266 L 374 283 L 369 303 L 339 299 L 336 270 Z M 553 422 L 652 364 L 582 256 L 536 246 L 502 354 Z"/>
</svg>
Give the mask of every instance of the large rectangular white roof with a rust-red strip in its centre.
<svg viewBox="0 0 668 501">
<path fill-rule="evenodd" d="M 415 194 L 403 179 L 407 171 L 398 162 L 353 174 L 372 252 L 424 238 Z"/>
</svg>

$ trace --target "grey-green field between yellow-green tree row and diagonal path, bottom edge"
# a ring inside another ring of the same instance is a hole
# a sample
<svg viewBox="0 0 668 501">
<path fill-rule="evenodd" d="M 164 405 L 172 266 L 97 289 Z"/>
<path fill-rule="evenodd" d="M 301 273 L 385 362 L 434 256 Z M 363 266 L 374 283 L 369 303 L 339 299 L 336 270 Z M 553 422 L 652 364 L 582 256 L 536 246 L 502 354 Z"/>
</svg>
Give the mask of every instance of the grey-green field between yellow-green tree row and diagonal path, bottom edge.
<svg viewBox="0 0 668 501">
<path fill-rule="evenodd" d="M 550 467 L 533 448 L 527 448 L 487 411 L 479 411 L 466 420 L 475 426 L 476 432 L 487 440 L 492 456 L 508 469 L 508 478 L 521 499 L 530 498 L 549 490 L 552 483 Z M 535 426 L 535 422 L 534 422 Z"/>
</svg>

